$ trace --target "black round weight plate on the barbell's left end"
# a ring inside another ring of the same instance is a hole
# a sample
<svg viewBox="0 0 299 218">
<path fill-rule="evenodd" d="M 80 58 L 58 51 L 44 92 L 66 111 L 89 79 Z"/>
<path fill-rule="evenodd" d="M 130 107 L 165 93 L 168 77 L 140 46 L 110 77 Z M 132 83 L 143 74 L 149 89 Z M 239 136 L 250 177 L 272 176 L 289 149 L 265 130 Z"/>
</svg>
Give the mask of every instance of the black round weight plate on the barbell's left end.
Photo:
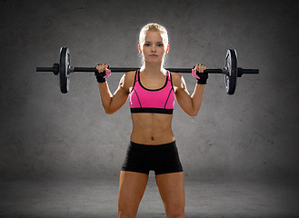
<svg viewBox="0 0 299 218">
<path fill-rule="evenodd" d="M 69 89 L 69 68 L 70 68 L 70 51 L 67 47 L 62 47 L 60 49 L 59 76 L 60 76 L 60 91 L 63 94 L 68 93 L 68 89 Z"/>
</svg>

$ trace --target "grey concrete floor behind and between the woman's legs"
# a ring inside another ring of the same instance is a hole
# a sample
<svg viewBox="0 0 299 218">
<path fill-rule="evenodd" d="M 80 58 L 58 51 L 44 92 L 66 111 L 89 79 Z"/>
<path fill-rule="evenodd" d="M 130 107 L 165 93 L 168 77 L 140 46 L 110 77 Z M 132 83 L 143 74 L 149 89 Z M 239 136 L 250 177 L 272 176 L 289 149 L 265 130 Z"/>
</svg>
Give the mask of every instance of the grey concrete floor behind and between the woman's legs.
<svg viewBox="0 0 299 218">
<path fill-rule="evenodd" d="M 116 217 L 118 178 L 0 182 L 0 217 Z M 295 182 L 185 181 L 186 217 L 299 217 Z M 154 174 L 137 217 L 165 217 Z"/>
</svg>

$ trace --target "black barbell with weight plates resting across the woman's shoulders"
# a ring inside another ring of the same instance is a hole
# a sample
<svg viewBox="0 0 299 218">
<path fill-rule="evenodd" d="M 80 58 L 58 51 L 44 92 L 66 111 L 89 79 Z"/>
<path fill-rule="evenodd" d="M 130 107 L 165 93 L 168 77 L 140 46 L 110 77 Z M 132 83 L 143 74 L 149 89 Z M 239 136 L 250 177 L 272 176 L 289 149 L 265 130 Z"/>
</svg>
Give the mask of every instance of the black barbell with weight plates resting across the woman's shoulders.
<svg viewBox="0 0 299 218">
<path fill-rule="evenodd" d="M 137 67 L 109 67 L 111 72 L 120 73 L 135 71 Z M 175 73 L 191 73 L 192 68 L 166 68 L 170 72 Z M 67 47 L 60 49 L 59 64 L 55 63 L 52 67 L 36 67 L 36 72 L 53 72 L 59 74 L 60 91 L 63 94 L 68 93 L 70 84 L 70 74 L 74 72 L 95 72 L 95 67 L 75 67 L 71 66 L 70 50 Z M 237 54 L 234 49 L 228 49 L 225 55 L 225 64 L 222 69 L 206 69 L 204 73 L 208 74 L 224 74 L 225 90 L 227 94 L 234 94 L 237 77 L 243 74 L 259 74 L 258 69 L 243 69 L 237 67 Z"/>
</svg>

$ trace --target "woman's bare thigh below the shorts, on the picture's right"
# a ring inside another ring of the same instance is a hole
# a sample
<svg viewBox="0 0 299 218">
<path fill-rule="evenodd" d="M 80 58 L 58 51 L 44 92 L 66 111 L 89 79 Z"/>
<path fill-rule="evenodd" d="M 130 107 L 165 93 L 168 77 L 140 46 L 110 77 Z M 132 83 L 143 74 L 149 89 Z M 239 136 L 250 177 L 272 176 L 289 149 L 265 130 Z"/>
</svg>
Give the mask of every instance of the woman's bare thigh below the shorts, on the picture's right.
<svg viewBox="0 0 299 218">
<path fill-rule="evenodd" d="M 164 173 L 155 176 L 167 218 L 184 216 L 184 173 Z"/>
</svg>

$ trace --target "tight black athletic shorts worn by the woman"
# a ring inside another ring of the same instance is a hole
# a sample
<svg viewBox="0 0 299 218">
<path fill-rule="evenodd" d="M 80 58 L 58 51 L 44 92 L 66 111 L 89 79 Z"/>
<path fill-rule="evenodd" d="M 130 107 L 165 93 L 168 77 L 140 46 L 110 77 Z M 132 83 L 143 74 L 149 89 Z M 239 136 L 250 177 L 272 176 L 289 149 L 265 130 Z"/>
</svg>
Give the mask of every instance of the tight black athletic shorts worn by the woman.
<svg viewBox="0 0 299 218">
<path fill-rule="evenodd" d="M 122 171 L 148 174 L 183 172 L 175 141 L 169 144 L 146 145 L 130 142 Z"/>
</svg>

